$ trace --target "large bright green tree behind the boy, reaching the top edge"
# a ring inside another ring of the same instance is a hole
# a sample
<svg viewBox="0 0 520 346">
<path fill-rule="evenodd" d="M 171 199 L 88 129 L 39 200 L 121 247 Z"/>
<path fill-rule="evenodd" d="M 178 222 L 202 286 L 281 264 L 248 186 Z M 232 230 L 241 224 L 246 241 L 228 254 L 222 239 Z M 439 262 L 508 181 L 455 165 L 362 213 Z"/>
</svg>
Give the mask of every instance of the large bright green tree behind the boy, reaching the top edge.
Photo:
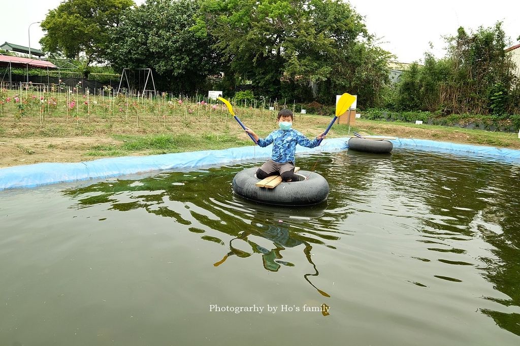
<svg viewBox="0 0 520 346">
<path fill-rule="evenodd" d="M 373 103 L 387 81 L 390 55 L 341 0 L 203 0 L 201 12 L 198 28 L 215 37 L 229 72 L 261 94 L 280 97 L 285 83 L 312 86 L 324 102 L 349 91 Z"/>
</svg>

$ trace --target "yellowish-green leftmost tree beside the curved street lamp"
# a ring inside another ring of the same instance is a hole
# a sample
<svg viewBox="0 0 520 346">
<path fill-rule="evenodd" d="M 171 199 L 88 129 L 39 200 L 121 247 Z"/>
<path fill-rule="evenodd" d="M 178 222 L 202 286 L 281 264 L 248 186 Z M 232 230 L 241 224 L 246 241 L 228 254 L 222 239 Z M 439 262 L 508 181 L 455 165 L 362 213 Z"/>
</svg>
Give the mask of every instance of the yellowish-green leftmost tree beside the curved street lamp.
<svg viewBox="0 0 520 346">
<path fill-rule="evenodd" d="M 41 23 L 46 32 L 42 49 L 70 59 L 86 56 L 86 66 L 102 61 L 110 44 L 109 29 L 119 24 L 133 0 L 66 0 L 50 10 Z"/>
</svg>

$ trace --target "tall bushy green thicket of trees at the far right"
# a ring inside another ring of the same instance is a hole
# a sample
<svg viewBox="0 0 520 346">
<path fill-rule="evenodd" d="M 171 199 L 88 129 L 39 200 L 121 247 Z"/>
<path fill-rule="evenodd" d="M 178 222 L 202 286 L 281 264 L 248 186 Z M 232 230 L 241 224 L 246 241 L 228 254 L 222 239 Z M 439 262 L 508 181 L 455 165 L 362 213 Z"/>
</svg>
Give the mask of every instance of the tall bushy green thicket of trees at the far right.
<svg viewBox="0 0 520 346">
<path fill-rule="evenodd" d="M 425 54 L 424 65 L 412 64 L 402 75 L 399 110 L 496 116 L 520 111 L 520 85 L 514 62 L 504 50 L 509 39 L 501 22 L 475 32 L 459 28 L 447 43 L 444 58 Z"/>
</svg>

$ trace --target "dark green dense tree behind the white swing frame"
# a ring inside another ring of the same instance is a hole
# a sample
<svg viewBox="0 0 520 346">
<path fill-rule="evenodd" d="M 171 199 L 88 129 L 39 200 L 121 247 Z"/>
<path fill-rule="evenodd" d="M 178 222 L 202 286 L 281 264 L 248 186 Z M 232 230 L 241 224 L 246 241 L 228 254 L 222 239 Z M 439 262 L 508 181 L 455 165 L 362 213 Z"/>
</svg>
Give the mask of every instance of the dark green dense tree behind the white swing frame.
<svg viewBox="0 0 520 346">
<path fill-rule="evenodd" d="M 193 0 L 147 0 L 125 11 L 110 31 L 107 60 L 116 70 L 151 68 L 160 89 L 196 90 L 218 72 L 214 43 L 192 28 L 198 10 Z"/>
</svg>

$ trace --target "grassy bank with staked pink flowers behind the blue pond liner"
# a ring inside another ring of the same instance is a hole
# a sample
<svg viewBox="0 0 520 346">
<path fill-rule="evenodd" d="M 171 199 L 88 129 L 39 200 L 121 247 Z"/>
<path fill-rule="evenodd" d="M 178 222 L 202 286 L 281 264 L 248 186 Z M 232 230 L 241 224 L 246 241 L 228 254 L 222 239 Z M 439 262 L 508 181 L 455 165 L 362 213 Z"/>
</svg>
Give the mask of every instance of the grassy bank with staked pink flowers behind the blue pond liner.
<svg viewBox="0 0 520 346">
<path fill-rule="evenodd" d="M 0 115 L 0 148 L 5 155 L 0 155 L 0 167 L 252 145 L 222 104 L 201 96 L 129 98 L 92 96 L 77 90 L 75 94 L 31 90 L 5 94 Z M 77 100 L 85 101 L 78 105 Z M 241 120 L 261 137 L 276 128 L 276 113 L 266 108 L 235 105 Z M 296 114 L 294 127 L 314 137 L 330 119 Z M 363 118 L 356 119 L 350 132 L 346 125 L 334 125 L 328 137 L 345 137 L 352 131 L 520 149 L 517 134 L 510 132 Z"/>
</svg>

